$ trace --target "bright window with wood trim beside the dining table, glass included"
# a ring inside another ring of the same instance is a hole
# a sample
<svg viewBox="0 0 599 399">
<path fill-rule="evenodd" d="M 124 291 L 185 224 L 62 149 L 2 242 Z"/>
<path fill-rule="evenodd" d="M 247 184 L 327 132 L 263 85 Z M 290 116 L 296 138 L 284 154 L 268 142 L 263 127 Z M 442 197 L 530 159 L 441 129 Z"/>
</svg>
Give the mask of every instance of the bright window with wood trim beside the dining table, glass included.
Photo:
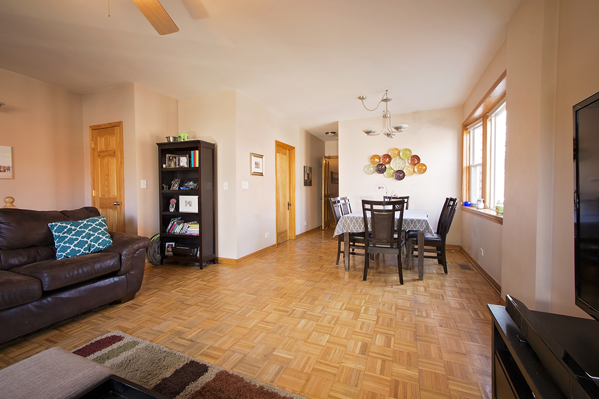
<svg viewBox="0 0 599 399">
<path fill-rule="evenodd" d="M 464 121 L 462 198 L 486 209 L 503 202 L 506 154 L 506 72 Z"/>
</svg>

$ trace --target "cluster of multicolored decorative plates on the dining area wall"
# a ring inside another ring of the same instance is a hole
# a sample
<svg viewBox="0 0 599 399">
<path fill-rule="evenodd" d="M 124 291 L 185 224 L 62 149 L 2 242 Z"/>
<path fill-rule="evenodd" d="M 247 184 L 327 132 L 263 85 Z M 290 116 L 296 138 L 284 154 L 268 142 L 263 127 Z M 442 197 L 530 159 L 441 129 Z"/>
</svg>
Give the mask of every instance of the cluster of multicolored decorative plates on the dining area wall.
<svg viewBox="0 0 599 399">
<path fill-rule="evenodd" d="M 373 154 L 370 163 L 364 167 L 367 175 L 383 175 L 401 181 L 408 176 L 422 175 L 426 165 L 410 148 L 390 148 L 383 155 Z"/>
</svg>

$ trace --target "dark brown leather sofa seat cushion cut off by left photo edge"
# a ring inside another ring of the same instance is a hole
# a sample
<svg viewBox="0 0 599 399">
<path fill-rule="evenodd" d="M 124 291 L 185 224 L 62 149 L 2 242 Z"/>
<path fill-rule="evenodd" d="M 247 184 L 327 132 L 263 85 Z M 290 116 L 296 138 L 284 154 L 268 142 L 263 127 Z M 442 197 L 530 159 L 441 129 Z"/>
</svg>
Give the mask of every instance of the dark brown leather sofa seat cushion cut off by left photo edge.
<svg viewBox="0 0 599 399">
<path fill-rule="evenodd" d="M 40 297 L 40 280 L 0 270 L 0 310 L 33 302 Z"/>
</svg>

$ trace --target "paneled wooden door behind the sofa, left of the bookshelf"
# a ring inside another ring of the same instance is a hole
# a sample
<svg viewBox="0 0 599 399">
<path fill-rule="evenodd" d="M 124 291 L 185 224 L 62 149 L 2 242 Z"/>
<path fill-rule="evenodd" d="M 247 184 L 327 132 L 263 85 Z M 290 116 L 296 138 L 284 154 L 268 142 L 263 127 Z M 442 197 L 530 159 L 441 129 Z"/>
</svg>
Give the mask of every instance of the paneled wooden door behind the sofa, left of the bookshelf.
<svg viewBox="0 0 599 399">
<path fill-rule="evenodd" d="M 123 122 L 89 127 L 92 206 L 106 217 L 110 232 L 125 233 Z"/>
</svg>

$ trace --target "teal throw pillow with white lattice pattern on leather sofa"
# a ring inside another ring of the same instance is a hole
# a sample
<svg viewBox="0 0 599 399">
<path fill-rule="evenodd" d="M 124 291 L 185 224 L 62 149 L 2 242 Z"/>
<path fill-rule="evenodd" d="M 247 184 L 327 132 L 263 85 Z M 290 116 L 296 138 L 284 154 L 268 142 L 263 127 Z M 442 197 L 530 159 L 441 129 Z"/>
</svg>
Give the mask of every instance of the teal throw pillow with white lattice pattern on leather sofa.
<svg viewBox="0 0 599 399">
<path fill-rule="evenodd" d="M 103 216 L 50 223 L 48 227 L 54 235 L 56 259 L 92 254 L 112 245 L 106 218 Z"/>
</svg>

